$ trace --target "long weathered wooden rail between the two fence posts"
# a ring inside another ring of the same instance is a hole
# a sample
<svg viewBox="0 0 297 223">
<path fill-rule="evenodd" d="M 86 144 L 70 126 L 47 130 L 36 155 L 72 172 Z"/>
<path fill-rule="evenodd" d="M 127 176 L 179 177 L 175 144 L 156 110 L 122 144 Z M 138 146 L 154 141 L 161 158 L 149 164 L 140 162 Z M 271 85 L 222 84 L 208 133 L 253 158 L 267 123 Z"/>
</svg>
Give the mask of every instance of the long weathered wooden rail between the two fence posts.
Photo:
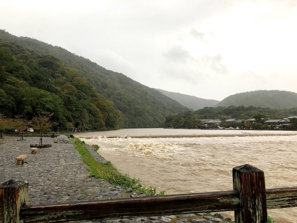
<svg viewBox="0 0 297 223">
<path fill-rule="evenodd" d="M 21 208 L 24 222 L 79 222 L 239 209 L 238 191 L 101 200 Z M 64 220 L 65 219 L 65 220 Z"/>
</svg>

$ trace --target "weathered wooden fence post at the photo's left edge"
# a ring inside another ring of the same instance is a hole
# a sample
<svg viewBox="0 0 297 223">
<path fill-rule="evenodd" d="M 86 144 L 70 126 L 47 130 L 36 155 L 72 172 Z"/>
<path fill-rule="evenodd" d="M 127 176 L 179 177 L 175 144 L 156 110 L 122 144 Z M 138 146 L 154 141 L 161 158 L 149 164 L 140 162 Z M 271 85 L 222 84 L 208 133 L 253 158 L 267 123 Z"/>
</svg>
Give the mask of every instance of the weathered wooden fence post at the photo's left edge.
<svg viewBox="0 0 297 223">
<path fill-rule="evenodd" d="M 19 223 L 20 207 L 28 204 L 28 182 L 8 180 L 0 184 L 0 222 Z"/>
</svg>

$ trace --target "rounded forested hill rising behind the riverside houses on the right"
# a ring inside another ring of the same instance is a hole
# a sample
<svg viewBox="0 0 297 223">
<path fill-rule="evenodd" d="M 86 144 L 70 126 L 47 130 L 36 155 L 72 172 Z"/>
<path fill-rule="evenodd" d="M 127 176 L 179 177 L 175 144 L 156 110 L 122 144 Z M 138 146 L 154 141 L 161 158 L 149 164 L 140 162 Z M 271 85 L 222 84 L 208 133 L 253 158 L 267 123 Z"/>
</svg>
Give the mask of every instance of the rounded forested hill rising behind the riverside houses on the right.
<svg viewBox="0 0 297 223">
<path fill-rule="evenodd" d="M 279 90 L 257 90 L 230 95 L 216 106 L 255 106 L 262 108 L 297 107 L 297 93 Z"/>
</svg>

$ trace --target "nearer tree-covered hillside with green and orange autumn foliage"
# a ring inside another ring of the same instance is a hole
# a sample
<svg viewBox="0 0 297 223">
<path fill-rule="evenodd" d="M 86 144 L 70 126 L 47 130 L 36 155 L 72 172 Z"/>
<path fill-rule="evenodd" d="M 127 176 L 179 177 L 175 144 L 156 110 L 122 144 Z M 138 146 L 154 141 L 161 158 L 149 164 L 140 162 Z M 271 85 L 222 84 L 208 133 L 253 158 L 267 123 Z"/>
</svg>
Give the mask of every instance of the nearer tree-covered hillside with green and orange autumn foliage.
<svg viewBox="0 0 297 223">
<path fill-rule="evenodd" d="M 0 40 L 0 113 L 31 120 L 42 112 L 54 113 L 60 128 L 81 130 L 117 129 L 121 114 L 75 69 Z"/>
</svg>

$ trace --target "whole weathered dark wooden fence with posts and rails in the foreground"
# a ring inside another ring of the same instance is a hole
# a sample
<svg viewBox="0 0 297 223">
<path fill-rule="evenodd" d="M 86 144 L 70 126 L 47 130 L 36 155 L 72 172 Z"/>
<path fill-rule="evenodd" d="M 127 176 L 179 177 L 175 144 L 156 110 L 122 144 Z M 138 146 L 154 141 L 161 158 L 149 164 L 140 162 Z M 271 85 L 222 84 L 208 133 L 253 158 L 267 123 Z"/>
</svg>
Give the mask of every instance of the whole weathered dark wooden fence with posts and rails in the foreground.
<svg viewBox="0 0 297 223">
<path fill-rule="evenodd" d="M 28 183 L 0 185 L 0 222 L 83 222 L 182 213 L 234 211 L 236 223 L 266 223 L 267 209 L 297 206 L 297 187 L 265 189 L 264 172 L 233 168 L 233 190 L 27 206 Z"/>
</svg>

